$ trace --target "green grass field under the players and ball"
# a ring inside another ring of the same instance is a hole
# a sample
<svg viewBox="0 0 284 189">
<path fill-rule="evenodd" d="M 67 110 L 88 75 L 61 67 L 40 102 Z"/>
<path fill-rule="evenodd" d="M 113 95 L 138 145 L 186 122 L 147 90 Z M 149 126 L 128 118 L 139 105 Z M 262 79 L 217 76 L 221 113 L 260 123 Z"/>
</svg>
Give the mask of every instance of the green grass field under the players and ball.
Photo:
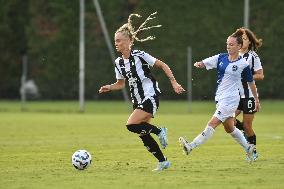
<svg viewBox="0 0 284 189">
<path fill-rule="evenodd" d="M 178 137 L 192 139 L 210 119 L 213 103 L 161 102 L 153 124 L 169 129 L 164 150 L 172 162 L 161 173 L 139 137 L 125 128 L 130 106 L 124 102 L 0 101 L 0 188 L 284 188 L 284 101 L 263 101 L 254 128 L 259 159 L 248 164 L 241 147 L 222 126 L 213 138 L 184 156 Z M 86 149 L 93 164 L 84 171 L 71 155 Z"/>
</svg>

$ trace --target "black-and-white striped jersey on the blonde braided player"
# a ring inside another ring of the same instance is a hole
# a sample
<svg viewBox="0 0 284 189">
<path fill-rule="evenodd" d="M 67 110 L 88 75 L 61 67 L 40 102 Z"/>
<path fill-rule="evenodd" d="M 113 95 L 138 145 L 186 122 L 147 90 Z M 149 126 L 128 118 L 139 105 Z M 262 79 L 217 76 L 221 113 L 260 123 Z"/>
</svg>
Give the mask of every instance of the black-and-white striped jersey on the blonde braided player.
<svg viewBox="0 0 284 189">
<path fill-rule="evenodd" d="M 134 104 L 142 103 L 151 96 L 158 96 L 161 91 L 158 82 L 152 76 L 150 66 L 156 58 L 144 51 L 132 50 L 128 59 L 118 57 L 115 60 L 116 79 L 126 79 Z"/>
</svg>

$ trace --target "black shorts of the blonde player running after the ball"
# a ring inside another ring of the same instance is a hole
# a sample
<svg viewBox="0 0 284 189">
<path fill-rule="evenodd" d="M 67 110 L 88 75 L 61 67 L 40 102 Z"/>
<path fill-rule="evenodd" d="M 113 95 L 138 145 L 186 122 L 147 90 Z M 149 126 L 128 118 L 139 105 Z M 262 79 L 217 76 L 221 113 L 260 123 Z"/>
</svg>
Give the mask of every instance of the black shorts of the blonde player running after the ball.
<svg viewBox="0 0 284 189">
<path fill-rule="evenodd" d="M 146 98 L 142 103 L 133 104 L 133 110 L 140 109 L 150 114 L 155 115 L 159 108 L 159 98 L 157 96 L 151 96 Z"/>
</svg>

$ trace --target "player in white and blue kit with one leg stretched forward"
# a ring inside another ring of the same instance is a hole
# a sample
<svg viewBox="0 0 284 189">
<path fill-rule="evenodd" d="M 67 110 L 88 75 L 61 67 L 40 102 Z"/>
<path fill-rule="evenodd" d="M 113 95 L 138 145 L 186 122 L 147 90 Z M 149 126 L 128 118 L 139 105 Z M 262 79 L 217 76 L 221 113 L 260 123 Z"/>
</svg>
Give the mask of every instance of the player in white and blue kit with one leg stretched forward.
<svg viewBox="0 0 284 189">
<path fill-rule="evenodd" d="M 247 156 L 252 159 L 254 145 L 248 144 L 242 132 L 234 126 L 234 115 L 240 101 L 238 89 L 242 74 L 254 95 L 255 111 L 260 110 L 256 86 L 253 82 L 249 64 L 239 55 L 243 43 L 242 34 L 241 31 L 237 31 L 227 38 L 227 53 L 218 54 L 194 64 L 197 68 L 217 69 L 216 111 L 204 131 L 192 142 L 183 137 L 179 138 L 186 155 L 212 137 L 215 128 L 222 123 L 225 131 L 244 148 Z"/>
</svg>

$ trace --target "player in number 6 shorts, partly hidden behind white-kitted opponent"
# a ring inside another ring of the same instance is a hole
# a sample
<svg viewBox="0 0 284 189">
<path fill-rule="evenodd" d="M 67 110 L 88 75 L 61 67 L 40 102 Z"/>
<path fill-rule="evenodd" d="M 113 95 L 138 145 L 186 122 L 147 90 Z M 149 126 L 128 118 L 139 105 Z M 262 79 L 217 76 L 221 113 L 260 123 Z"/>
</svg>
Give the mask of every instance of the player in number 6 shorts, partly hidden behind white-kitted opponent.
<svg viewBox="0 0 284 189">
<path fill-rule="evenodd" d="M 247 28 L 239 28 L 237 31 L 243 32 L 243 46 L 240 50 L 240 55 L 249 63 L 253 79 L 255 81 L 263 80 L 263 68 L 256 51 L 262 45 L 262 40 L 258 39 L 255 34 Z M 256 135 L 252 128 L 254 119 L 254 98 L 246 81 L 242 80 L 240 87 L 241 100 L 236 117 L 243 112 L 243 122 L 236 120 L 236 127 L 245 132 L 245 136 L 250 144 L 256 145 Z M 256 149 L 253 152 L 253 160 L 258 158 Z"/>
</svg>

